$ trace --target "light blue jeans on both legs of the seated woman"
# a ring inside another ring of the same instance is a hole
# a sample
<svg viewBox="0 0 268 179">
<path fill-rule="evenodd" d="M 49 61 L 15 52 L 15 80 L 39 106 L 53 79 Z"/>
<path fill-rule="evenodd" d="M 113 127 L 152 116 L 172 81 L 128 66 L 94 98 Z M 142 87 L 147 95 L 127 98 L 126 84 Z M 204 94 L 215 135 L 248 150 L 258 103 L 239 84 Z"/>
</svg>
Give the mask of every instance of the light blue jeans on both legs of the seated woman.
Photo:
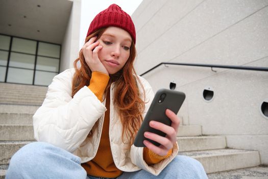
<svg viewBox="0 0 268 179">
<path fill-rule="evenodd" d="M 59 147 L 34 142 L 22 147 L 12 156 L 6 179 L 100 178 L 87 175 L 80 161 L 78 156 Z M 207 175 L 197 160 L 178 155 L 158 176 L 139 170 L 124 172 L 117 178 L 207 178 Z"/>
</svg>

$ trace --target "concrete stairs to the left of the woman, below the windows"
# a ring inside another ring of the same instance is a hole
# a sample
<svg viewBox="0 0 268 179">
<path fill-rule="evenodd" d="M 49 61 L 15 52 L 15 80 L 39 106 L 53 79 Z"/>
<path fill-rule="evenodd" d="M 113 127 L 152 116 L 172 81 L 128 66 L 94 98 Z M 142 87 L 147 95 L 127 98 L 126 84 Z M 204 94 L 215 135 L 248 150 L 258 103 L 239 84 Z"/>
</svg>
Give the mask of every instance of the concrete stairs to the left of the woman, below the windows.
<svg viewBox="0 0 268 179">
<path fill-rule="evenodd" d="M 32 117 L 46 91 L 44 86 L 0 83 L 0 179 L 11 156 L 34 141 Z"/>
</svg>

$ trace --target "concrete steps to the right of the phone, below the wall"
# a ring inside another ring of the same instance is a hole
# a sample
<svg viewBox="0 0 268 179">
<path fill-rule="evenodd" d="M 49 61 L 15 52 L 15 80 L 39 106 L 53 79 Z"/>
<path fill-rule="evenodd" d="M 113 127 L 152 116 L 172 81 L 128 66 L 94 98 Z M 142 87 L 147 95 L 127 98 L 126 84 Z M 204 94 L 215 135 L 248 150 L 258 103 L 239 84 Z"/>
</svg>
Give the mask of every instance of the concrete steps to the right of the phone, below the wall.
<svg viewBox="0 0 268 179">
<path fill-rule="evenodd" d="M 258 151 L 227 148 L 224 136 L 202 136 L 201 126 L 200 133 L 189 137 L 184 134 L 184 127 L 190 129 L 192 126 L 180 126 L 182 130 L 178 133 L 179 154 L 191 156 L 201 162 L 207 173 L 260 165 Z"/>
</svg>

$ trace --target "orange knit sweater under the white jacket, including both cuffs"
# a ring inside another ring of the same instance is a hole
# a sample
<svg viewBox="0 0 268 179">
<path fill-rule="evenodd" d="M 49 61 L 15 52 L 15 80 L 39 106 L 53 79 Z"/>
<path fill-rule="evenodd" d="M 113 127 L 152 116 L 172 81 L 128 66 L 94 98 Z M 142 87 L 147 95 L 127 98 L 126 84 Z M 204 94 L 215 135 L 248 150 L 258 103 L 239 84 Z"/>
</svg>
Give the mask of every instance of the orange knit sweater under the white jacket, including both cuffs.
<svg viewBox="0 0 268 179">
<path fill-rule="evenodd" d="M 103 101 L 103 94 L 108 84 L 109 76 L 100 72 L 92 72 L 89 89 L 98 97 L 100 101 Z M 110 91 L 106 96 L 106 108 L 105 112 L 102 136 L 99 149 L 96 156 L 91 161 L 82 164 L 82 167 L 87 171 L 87 174 L 91 176 L 99 177 L 117 177 L 123 173 L 123 171 L 116 168 L 113 162 L 113 156 L 110 147 L 109 140 L 109 122 L 110 122 Z M 172 153 L 172 149 L 169 150 L 167 155 L 160 156 L 149 150 L 147 147 L 143 149 L 143 159 L 148 165 L 157 164 L 161 160 L 167 158 Z"/>
</svg>

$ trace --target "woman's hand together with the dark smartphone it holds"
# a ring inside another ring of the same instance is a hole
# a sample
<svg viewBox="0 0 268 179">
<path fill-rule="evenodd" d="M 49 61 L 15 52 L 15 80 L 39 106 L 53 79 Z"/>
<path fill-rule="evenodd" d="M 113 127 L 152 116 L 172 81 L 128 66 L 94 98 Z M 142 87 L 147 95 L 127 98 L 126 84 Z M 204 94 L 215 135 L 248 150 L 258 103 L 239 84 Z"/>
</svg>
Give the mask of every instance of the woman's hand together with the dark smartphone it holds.
<svg viewBox="0 0 268 179">
<path fill-rule="evenodd" d="M 177 113 L 185 94 L 169 89 L 159 89 L 144 117 L 134 140 L 137 147 L 148 147 L 154 153 L 164 156 L 177 141 L 180 119 Z"/>
</svg>

